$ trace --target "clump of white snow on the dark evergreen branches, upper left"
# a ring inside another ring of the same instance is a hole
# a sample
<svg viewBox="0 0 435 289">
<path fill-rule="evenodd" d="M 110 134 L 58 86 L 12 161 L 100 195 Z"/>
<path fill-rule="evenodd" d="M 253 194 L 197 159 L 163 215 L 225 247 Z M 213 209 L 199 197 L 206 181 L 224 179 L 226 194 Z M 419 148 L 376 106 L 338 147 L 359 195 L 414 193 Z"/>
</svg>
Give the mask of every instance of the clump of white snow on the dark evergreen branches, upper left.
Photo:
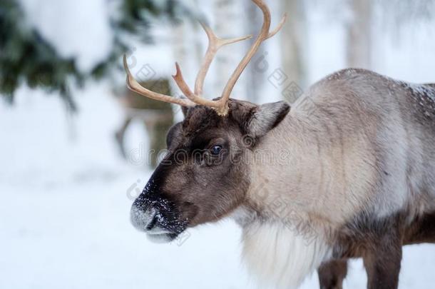
<svg viewBox="0 0 435 289">
<path fill-rule="evenodd" d="M 76 56 L 78 67 L 88 71 L 109 54 L 112 41 L 105 0 L 19 0 L 48 41 L 56 45 L 62 56 Z M 59 16 L 61 18 L 59 19 Z M 91 28 L 91 29 L 90 29 Z M 83 33 L 86 31 L 86 33 Z M 96 41 L 98 39 L 98 41 Z"/>
</svg>

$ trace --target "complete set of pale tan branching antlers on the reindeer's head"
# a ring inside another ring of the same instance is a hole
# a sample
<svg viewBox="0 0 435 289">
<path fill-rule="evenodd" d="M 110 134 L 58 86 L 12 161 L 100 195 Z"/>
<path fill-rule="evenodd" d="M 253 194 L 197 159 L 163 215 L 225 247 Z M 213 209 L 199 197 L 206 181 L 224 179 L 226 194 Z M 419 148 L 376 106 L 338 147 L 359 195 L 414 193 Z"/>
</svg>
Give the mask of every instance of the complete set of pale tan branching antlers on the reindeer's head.
<svg viewBox="0 0 435 289">
<path fill-rule="evenodd" d="M 195 104 L 200 104 L 203 106 L 210 106 L 212 108 L 215 108 L 215 110 L 218 112 L 220 116 L 225 116 L 228 113 L 228 100 L 230 99 L 230 94 L 232 92 L 232 89 L 235 86 L 235 83 L 237 83 L 237 80 L 240 78 L 240 75 L 245 70 L 247 64 L 250 63 L 252 57 L 257 52 L 258 48 L 260 47 L 260 44 L 262 44 L 263 41 L 270 39 L 270 37 L 275 36 L 280 29 L 282 29 L 282 26 L 285 24 L 285 20 L 287 19 L 287 15 L 285 14 L 280 24 L 278 24 L 277 28 L 273 31 L 270 31 L 270 10 L 267 7 L 267 5 L 262 0 L 252 0 L 263 12 L 263 25 L 262 29 L 260 31 L 260 34 L 257 36 L 257 39 L 255 39 L 254 44 L 252 44 L 249 51 L 247 51 L 247 54 L 245 57 L 240 61 L 240 64 L 237 66 L 235 71 L 232 73 L 232 76 L 230 77 L 230 80 L 228 81 L 227 85 L 225 86 L 222 96 L 218 101 L 210 101 L 208 99 L 205 99 L 202 97 L 203 94 L 203 86 L 204 86 L 204 80 L 205 76 L 208 73 L 208 70 L 210 69 L 210 65 L 215 58 L 216 53 L 218 50 L 227 44 L 233 44 L 238 41 L 242 41 L 245 39 L 250 39 L 252 36 L 244 36 L 236 39 L 220 39 L 218 36 L 214 34 L 212 29 L 210 27 L 206 26 L 205 24 L 201 23 L 201 26 L 203 26 L 203 29 L 205 30 L 205 33 L 208 36 L 208 49 L 205 53 L 203 63 L 201 64 L 200 71 L 198 72 L 198 76 L 195 81 L 195 91 L 191 91 L 187 83 L 185 82 L 183 78 L 183 73 L 181 73 L 180 66 L 176 63 L 175 67 L 177 69 L 177 72 L 175 73 L 175 76 L 173 76 L 175 83 L 177 83 L 180 90 L 185 94 L 185 96 L 188 97 L 188 99 L 179 99 L 179 98 L 173 98 L 170 96 L 165 96 L 160 93 L 155 93 L 153 91 L 149 91 L 147 88 L 144 88 L 143 86 L 140 86 L 140 84 L 135 81 L 133 76 L 131 76 L 131 73 L 127 66 L 126 56 L 124 56 L 124 66 L 126 68 L 128 77 L 127 77 L 127 86 L 132 91 L 135 91 L 137 93 L 142 94 L 143 96 L 147 96 L 149 98 L 153 98 L 160 101 L 170 102 L 170 103 L 177 103 L 181 106 L 195 106 Z"/>
</svg>

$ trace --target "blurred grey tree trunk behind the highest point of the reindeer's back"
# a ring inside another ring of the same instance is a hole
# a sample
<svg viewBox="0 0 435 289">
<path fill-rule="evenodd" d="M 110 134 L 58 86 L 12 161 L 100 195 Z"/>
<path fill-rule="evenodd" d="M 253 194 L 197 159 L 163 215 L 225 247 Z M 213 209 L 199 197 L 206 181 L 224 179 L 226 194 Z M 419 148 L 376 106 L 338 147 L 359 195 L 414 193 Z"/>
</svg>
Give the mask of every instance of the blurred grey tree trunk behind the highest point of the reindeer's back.
<svg viewBox="0 0 435 289">
<path fill-rule="evenodd" d="M 347 66 L 370 69 L 372 66 L 372 1 L 349 0 L 352 19 L 347 27 Z"/>
</svg>

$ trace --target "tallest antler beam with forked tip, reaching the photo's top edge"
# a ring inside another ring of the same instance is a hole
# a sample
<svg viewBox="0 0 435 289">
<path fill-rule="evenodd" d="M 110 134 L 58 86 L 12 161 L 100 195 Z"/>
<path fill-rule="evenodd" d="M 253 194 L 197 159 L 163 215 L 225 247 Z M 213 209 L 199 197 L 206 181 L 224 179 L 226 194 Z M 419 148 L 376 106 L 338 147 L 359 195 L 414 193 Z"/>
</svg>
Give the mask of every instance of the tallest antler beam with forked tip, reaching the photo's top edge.
<svg viewBox="0 0 435 289">
<path fill-rule="evenodd" d="M 282 17 L 280 24 L 278 24 L 277 28 L 274 29 L 273 31 L 270 31 L 271 17 L 270 17 L 269 8 L 265 4 L 265 2 L 262 0 L 252 0 L 252 1 L 263 12 L 263 16 L 264 16 L 263 26 L 262 26 L 262 29 L 260 31 L 260 34 L 257 36 L 257 39 L 255 39 L 254 44 L 252 44 L 250 50 L 247 51 L 247 54 L 245 55 L 245 57 L 242 59 L 242 61 L 240 61 L 240 64 L 237 66 L 235 71 L 232 73 L 230 80 L 228 81 L 227 85 L 224 88 L 224 91 L 222 92 L 222 97 L 219 100 L 219 102 L 220 102 L 219 108 L 220 109 L 218 111 L 218 113 L 221 115 L 227 114 L 227 110 L 228 110 L 227 102 L 230 99 L 230 94 L 232 92 L 232 89 L 234 88 L 235 83 L 237 83 L 237 80 L 240 78 L 240 75 L 242 74 L 242 72 L 245 70 L 247 64 L 250 63 L 255 52 L 257 52 L 258 48 L 260 47 L 260 44 L 262 44 L 263 41 L 269 39 L 270 37 L 275 36 L 275 34 L 277 34 L 277 32 L 280 31 L 280 29 L 282 29 L 282 26 L 284 26 L 285 21 L 287 19 L 287 15 L 285 14 Z"/>
</svg>

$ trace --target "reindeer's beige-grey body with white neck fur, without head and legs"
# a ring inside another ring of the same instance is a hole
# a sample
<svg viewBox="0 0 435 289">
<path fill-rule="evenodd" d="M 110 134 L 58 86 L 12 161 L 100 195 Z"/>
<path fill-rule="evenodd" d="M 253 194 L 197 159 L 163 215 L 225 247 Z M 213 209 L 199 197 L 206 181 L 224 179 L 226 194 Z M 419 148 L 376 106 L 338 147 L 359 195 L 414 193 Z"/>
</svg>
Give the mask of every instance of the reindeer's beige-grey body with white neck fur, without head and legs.
<svg viewBox="0 0 435 289">
<path fill-rule="evenodd" d="M 314 84 L 255 150 L 285 159 L 250 161 L 250 201 L 235 213 L 249 267 L 295 288 L 327 260 L 363 257 L 379 233 L 393 238 L 385 227 L 435 212 L 434 143 L 434 86 L 361 69 Z"/>
</svg>

